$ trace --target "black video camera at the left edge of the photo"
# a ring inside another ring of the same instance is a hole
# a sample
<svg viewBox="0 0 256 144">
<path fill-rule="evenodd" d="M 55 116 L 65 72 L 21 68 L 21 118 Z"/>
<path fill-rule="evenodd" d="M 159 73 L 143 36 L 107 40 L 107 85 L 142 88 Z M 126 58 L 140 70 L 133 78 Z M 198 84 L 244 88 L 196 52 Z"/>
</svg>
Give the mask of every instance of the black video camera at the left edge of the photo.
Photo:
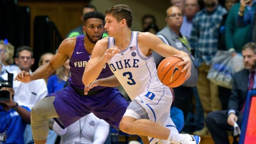
<svg viewBox="0 0 256 144">
<path fill-rule="evenodd" d="M 13 74 L 9 73 L 6 70 L 8 74 L 8 80 L 1 80 L 0 81 L 0 88 L 1 87 L 12 87 L 12 80 L 13 80 Z M 7 90 L 0 91 L 0 101 L 8 101 L 10 99 L 10 92 Z"/>
</svg>

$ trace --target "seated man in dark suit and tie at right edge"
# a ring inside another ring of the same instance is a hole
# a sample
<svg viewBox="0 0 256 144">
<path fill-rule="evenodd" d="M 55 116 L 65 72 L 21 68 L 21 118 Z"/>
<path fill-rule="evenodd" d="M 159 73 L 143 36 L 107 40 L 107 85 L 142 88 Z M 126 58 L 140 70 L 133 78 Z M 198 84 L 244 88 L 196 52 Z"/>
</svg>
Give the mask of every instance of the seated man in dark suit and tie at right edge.
<svg viewBox="0 0 256 144">
<path fill-rule="evenodd" d="M 245 69 L 234 75 L 228 110 L 211 112 L 205 119 L 206 126 L 216 144 L 229 144 L 226 131 L 233 129 L 234 122 L 241 128 L 247 92 L 255 89 L 256 43 L 245 44 L 242 55 Z"/>
</svg>

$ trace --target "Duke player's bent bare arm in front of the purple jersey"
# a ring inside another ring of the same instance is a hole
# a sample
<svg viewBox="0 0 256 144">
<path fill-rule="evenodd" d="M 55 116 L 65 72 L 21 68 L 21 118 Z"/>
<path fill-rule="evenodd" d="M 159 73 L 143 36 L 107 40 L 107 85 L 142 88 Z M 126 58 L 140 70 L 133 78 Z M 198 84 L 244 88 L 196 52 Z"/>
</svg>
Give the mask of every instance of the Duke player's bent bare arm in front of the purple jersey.
<svg viewBox="0 0 256 144">
<path fill-rule="evenodd" d="M 95 44 L 91 59 L 87 62 L 82 76 L 82 82 L 85 86 L 89 86 L 96 80 L 100 75 L 103 66 L 114 56 L 114 54 L 119 52 L 117 48 L 107 49 L 107 46 L 108 38 L 104 38 Z"/>
</svg>

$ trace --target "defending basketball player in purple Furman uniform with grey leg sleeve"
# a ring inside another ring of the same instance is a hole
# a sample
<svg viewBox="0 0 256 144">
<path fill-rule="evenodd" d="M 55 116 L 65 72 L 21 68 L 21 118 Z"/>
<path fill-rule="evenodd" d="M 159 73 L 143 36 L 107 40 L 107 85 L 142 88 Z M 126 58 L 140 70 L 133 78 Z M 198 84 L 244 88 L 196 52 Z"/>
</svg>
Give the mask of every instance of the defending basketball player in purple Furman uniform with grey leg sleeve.
<svg viewBox="0 0 256 144">
<path fill-rule="evenodd" d="M 40 66 L 32 74 L 22 71 L 16 76 L 15 80 L 25 83 L 42 79 L 70 59 L 70 85 L 47 95 L 32 107 L 31 128 L 34 143 L 46 143 L 49 118 L 54 118 L 60 127 L 66 128 L 81 117 L 94 113 L 95 116 L 104 119 L 119 130 L 119 122 L 126 111 L 128 102 L 116 88 L 113 88 L 120 84 L 108 65 L 103 66 L 97 78 L 101 80 L 95 82 L 100 86 L 87 91 L 87 89 L 84 90 L 85 86 L 82 83 L 82 75 L 86 63 L 91 58 L 92 49 L 95 43 L 102 38 L 104 18 L 105 15 L 98 11 L 86 13 L 83 26 L 86 35 L 64 39 L 49 63 Z"/>
</svg>

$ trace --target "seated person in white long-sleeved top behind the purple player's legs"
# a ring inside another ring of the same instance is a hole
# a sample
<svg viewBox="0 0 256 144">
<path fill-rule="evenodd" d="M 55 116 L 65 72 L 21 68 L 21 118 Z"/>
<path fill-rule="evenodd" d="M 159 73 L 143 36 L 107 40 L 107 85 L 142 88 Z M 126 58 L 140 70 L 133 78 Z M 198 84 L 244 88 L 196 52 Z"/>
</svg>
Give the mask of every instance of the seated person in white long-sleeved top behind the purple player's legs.
<svg viewBox="0 0 256 144">
<path fill-rule="evenodd" d="M 60 135 L 60 144 L 103 144 L 109 133 L 110 125 L 93 113 L 87 114 L 65 129 L 56 122 L 53 130 Z"/>
</svg>

